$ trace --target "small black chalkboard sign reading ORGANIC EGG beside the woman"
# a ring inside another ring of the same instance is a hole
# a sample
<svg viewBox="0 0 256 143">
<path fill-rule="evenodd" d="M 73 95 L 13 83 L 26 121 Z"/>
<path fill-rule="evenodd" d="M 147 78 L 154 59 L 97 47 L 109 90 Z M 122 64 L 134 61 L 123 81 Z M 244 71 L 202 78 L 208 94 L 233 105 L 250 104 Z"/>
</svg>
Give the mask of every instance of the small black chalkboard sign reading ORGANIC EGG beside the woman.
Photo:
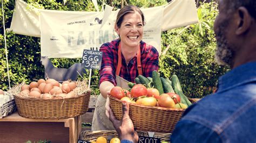
<svg viewBox="0 0 256 143">
<path fill-rule="evenodd" d="M 97 69 L 100 70 L 102 65 L 102 52 L 93 50 L 84 50 L 82 64 L 85 69 Z"/>
</svg>

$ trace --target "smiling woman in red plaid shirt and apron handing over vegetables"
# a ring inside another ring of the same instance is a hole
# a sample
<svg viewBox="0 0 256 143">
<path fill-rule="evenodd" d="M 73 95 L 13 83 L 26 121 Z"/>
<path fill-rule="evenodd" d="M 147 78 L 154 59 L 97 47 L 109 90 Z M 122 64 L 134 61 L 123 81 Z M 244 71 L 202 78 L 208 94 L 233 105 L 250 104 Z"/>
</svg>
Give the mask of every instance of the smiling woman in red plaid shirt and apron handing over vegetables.
<svg viewBox="0 0 256 143">
<path fill-rule="evenodd" d="M 119 38 L 100 47 L 103 52 L 99 79 L 101 94 L 96 103 L 92 130 L 114 130 L 105 115 L 106 97 L 114 86 L 120 86 L 124 79 L 134 83 L 139 74 L 152 77 L 152 71 L 158 70 L 156 48 L 142 41 L 144 25 L 143 12 L 137 6 L 124 6 L 117 14 L 114 26 Z"/>
</svg>

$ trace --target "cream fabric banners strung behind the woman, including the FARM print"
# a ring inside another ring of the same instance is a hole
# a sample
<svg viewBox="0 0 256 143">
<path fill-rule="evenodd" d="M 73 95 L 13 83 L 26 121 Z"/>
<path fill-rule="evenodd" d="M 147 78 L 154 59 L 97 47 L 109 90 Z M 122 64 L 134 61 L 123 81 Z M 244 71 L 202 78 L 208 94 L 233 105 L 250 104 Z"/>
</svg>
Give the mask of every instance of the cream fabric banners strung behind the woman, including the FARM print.
<svg viewBox="0 0 256 143">
<path fill-rule="evenodd" d="M 118 38 L 114 35 L 117 11 L 106 6 L 105 12 L 57 11 L 36 9 L 16 1 L 10 30 L 41 37 L 41 56 L 81 58 L 83 49 L 97 50 Z M 161 31 L 197 23 L 193 0 L 173 0 L 165 6 L 142 9 L 146 19 L 143 40 L 161 52 Z"/>
</svg>

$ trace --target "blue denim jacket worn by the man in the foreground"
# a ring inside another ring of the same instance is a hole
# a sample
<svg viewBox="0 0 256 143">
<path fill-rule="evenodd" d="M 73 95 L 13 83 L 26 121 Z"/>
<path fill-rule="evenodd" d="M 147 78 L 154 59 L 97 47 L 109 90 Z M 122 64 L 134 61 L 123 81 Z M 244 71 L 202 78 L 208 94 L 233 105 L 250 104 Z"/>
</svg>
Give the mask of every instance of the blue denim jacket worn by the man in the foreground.
<svg viewBox="0 0 256 143">
<path fill-rule="evenodd" d="M 255 143 L 256 62 L 226 73 L 216 93 L 188 107 L 171 142 Z"/>
</svg>

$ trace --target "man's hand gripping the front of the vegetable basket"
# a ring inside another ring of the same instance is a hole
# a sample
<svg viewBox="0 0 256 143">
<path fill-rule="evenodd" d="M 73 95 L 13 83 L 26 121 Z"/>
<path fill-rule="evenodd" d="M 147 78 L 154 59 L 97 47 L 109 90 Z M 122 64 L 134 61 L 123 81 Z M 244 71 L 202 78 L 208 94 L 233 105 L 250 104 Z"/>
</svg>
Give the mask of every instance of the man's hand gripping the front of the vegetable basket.
<svg viewBox="0 0 256 143">
<path fill-rule="evenodd" d="M 139 137 L 137 132 L 134 131 L 134 126 L 129 116 L 129 104 L 126 103 L 126 101 L 122 101 L 122 103 L 123 118 L 121 121 L 117 120 L 116 117 L 114 117 L 114 113 L 110 107 L 106 107 L 106 112 L 109 113 L 109 119 L 113 123 L 113 126 L 116 129 L 120 140 L 131 140 L 137 143 Z M 109 103 L 106 103 L 106 106 L 109 106 Z"/>
</svg>

